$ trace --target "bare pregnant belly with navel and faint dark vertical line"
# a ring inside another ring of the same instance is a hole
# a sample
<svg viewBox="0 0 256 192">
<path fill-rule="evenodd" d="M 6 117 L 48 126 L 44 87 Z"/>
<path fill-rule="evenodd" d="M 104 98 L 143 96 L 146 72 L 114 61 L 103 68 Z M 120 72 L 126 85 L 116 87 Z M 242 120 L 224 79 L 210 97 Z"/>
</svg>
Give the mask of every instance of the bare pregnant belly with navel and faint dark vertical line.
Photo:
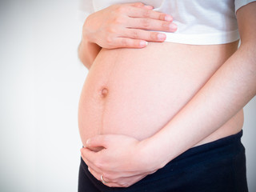
<svg viewBox="0 0 256 192">
<path fill-rule="evenodd" d="M 79 102 L 82 144 L 96 134 L 126 134 L 139 140 L 155 134 L 237 46 L 238 42 L 216 46 L 164 42 L 150 43 L 140 50 L 101 50 L 86 77 Z M 240 111 L 198 145 L 235 134 L 242 123 Z"/>
</svg>

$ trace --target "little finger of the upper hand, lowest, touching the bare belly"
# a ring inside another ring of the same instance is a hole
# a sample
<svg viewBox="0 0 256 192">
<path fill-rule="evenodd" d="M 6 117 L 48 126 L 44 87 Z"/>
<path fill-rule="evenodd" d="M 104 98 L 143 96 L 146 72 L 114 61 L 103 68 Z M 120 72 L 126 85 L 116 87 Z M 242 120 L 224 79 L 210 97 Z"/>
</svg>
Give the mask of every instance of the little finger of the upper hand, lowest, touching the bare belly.
<svg viewBox="0 0 256 192">
<path fill-rule="evenodd" d="M 143 48 L 148 42 L 132 38 L 114 38 L 113 46 L 122 48 Z"/>
</svg>

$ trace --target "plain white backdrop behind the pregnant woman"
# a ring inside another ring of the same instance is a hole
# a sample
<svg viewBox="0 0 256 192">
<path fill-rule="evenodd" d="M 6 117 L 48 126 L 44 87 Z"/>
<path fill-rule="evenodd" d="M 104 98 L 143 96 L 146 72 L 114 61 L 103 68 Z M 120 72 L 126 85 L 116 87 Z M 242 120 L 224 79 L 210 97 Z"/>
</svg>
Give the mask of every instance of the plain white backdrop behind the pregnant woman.
<svg viewBox="0 0 256 192">
<path fill-rule="evenodd" d="M 77 191 L 82 146 L 78 0 L 0 2 L 0 191 Z M 255 82 L 256 83 L 256 82 Z M 256 189 L 256 99 L 245 108 L 250 191 Z"/>
</svg>

